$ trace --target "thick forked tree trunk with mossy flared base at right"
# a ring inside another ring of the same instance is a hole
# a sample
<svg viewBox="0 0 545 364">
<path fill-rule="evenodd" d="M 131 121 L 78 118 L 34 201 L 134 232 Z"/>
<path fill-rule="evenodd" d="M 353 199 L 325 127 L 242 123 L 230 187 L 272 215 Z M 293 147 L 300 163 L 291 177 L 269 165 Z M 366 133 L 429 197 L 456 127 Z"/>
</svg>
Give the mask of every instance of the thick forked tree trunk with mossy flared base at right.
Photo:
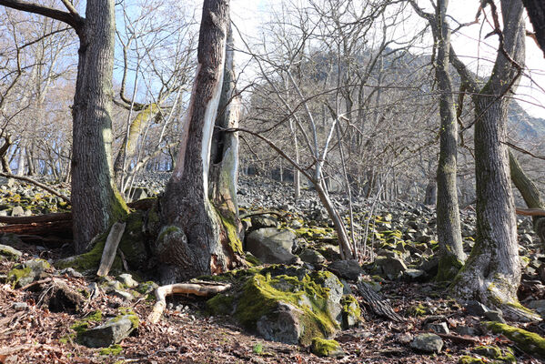
<svg viewBox="0 0 545 364">
<path fill-rule="evenodd" d="M 475 105 L 475 174 L 477 181 L 477 238 L 466 266 L 450 289 L 464 299 L 479 299 L 500 308 L 512 319 L 537 319 L 522 308 L 517 298 L 520 258 L 517 221 L 510 186 L 506 120 L 508 92 L 515 92 L 524 62 L 524 22 L 520 0 L 501 2 L 504 28 L 503 49 L 498 51 L 489 81 L 482 89 L 456 57 L 452 57 L 464 82 L 473 93 Z M 506 52 L 511 60 L 503 52 Z"/>
</svg>

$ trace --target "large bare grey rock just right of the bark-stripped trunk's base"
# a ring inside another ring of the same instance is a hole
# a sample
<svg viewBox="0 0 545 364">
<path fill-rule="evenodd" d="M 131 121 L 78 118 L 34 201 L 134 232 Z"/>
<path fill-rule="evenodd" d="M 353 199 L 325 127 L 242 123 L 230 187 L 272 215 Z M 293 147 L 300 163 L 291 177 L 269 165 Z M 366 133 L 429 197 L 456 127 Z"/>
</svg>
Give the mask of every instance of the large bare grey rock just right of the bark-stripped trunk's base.
<svg viewBox="0 0 545 364">
<path fill-rule="evenodd" d="M 291 253 L 296 236 L 276 227 L 259 228 L 247 236 L 247 251 L 263 263 L 288 264 L 297 257 Z"/>
</svg>

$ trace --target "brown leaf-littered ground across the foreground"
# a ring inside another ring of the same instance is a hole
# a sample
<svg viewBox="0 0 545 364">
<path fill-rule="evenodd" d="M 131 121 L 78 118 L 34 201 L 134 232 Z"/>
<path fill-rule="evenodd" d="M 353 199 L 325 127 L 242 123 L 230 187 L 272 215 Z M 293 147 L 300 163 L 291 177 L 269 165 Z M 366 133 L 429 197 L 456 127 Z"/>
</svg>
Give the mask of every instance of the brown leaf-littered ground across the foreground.
<svg viewBox="0 0 545 364">
<path fill-rule="evenodd" d="M 61 249 L 37 251 L 32 246 L 25 246 L 23 251 L 23 259 L 58 258 L 62 254 Z M 0 275 L 5 275 L 14 264 L 3 261 Z M 79 290 L 90 283 L 87 278 L 65 276 L 63 279 L 71 288 Z M 364 310 L 365 322 L 357 329 L 340 332 L 336 338 L 347 355 L 330 359 L 318 358 L 310 353 L 310 348 L 260 339 L 228 318 L 210 317 L 205 312 L 203 299 L 176 297 L 170 301 L 172 305 L 163 318 L 151 325 L 145 319 L 153 301 L 144 297 L 127 303 L 101 293 L 96 298 L 87 298 L 82 313 L 53 313 L 41 305 L 39 292 L 3 284 L 0 286 L 0 363 L 458 363 L 461 356 L 470 354 L 470 349 L 479 345 L 513 347 L 509 339 L 488 332 L 483 336 L 465 337 L 465 342 L 445 339 L 445 349 L 439 354 L 417 353 L 404 343 L 403 337 L 407 333 L 425 332 L 422 329 L 425 320 L 444 315 L 451 329 L 460 325 L 479 327 L 479 323 L 467 317 L 456 302 L 441 297 L 444 289 L 434 284 L 387 282 L 383 286 L 381 294 L 390 299 L 391 306 L 407 321 L 393 323 Z M 16 311 L 15 302 L 26 302 L 28 308 Z M 122 307 L 133 308 L 144 322 L 122 341 L 118 354 L 101 355 L 100 349 L 89 349 L 73 340 L 74 331 L 70 328 L 78 320 L 96 310 L 105 318 L 113 317 Z M 530 329 L 543 335 L 539 327 Z M 519 363 L 540 362 L 514 349 Z"/>
</svg>

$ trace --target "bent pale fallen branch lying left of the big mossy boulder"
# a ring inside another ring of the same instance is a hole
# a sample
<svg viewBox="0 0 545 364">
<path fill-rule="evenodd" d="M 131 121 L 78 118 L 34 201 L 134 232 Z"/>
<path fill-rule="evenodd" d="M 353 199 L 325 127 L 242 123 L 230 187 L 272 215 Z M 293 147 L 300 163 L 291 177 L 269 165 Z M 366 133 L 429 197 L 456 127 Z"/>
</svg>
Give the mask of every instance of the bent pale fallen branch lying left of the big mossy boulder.
<svg viewBox="0 0 545 364">
<path fill-rule="evenodd" d="M 230 284 L 217 284 L 214 282 L 211 285 L 195 284 L 195 283 L 175 283 L 167 286 L 156 288 L 156 304 L 153 310 L 147 316 L 147 320 L 155 324 L 161 318 L 163 311 L 167 307 L 167 296 L 176 293 L 186 293 L 200 297 L 216 296 L 218 293 L 231 288 Z"/>
</svg>

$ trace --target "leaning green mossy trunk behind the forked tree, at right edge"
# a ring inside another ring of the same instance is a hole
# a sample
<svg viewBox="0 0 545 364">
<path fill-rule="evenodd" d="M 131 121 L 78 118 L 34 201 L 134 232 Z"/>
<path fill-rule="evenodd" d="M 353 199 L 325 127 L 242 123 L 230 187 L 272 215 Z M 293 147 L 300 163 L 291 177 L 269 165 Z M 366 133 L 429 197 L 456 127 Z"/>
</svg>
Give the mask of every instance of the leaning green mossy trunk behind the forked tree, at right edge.
<svg viewBox="0 0 545 364">
<path fill-rule="evenodd" d="M 545 203 L 540 196 L 540 190 L 535 183 L 524 173 L 520 163 L 511 152 L 509 152 L 509 163 L 511 180 L 515 184 L 515 187 L 524 198 L 524 202 L 528 208 L 540 208 L 545 209 Z M 545 245 L 545 217 L 535 216 L 532 217 L 534 224 L 534 231 L 540 237 L 541 244 Z"/>
</svg>

